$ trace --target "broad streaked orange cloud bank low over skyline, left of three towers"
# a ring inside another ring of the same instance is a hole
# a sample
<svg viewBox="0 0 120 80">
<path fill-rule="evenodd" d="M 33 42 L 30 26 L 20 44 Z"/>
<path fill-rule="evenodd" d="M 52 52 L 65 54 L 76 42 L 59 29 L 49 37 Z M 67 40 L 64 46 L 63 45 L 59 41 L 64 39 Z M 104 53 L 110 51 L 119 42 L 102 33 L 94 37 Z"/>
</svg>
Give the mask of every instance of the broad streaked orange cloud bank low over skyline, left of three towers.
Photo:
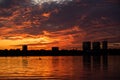
<svg viewBox="0 0 120 80">
<path fill-rule="evenodd" d="M 9 46 L 8 48 L 15 48 L 15 45 L 20 45 L 18 47 L 21 47 L 21 45 L 27 44 L 29 49 L 51 49 L 53 46 L 58 46 L 61 49 L 71 49 L 76 46 L 80 47 L 75 42 L 76 40 L 82 42 L 84 36 L 85 32 L 79 26 L 74 26 L 70 29 L 56 32 L 43 31 L 43 34 L 38 35 L 11 34 L 7 39 L 0 41 L 6 43 L 6 46 Z"/>
</svg>

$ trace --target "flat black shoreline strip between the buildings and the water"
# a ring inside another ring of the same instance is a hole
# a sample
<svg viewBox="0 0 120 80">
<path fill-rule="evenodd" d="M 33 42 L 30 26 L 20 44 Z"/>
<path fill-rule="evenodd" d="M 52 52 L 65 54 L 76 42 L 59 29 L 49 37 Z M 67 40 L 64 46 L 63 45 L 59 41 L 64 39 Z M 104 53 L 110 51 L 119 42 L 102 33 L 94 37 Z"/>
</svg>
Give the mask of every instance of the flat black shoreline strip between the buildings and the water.
<svg viewBox="0 0 120 80">
<path fill-rule="evenodd" d="M 80 50 L 0 50 L 0 57 L 7 56 L 102 56 L 102 55 L 120 55 L 120 49 L 109 49 L 109 50 L 90 50 L 90 51 L 80 51 Z"/>
</svg>

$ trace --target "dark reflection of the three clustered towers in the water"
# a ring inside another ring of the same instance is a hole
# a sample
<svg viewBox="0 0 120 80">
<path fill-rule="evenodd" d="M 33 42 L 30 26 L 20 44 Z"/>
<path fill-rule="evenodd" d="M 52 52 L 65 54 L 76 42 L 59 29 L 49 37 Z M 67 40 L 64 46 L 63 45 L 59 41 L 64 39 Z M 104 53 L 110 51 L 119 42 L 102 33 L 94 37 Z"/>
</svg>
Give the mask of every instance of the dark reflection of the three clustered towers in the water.
<svg viewBox="0 0 120 80">
<path fill-rule="evenodd" d="M 83 56 L 83 68 L 86 71 L 98 71 L 108 70 L 108 56 L 107 55 L 84 55 Z"/>
</svg>

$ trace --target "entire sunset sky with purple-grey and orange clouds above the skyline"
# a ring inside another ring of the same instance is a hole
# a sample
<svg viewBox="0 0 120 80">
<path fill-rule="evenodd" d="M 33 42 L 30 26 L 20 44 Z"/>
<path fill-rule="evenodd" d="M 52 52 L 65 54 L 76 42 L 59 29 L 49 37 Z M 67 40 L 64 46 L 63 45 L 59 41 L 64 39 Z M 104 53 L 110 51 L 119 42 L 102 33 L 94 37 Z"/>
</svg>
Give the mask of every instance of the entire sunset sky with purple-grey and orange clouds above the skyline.
<svg viewBox="0 0 120 80">
<path fill-rule="evenodd" d="M 0 0 L 0 49 L 120 48 L 119 0 Z"/>
</svg>

